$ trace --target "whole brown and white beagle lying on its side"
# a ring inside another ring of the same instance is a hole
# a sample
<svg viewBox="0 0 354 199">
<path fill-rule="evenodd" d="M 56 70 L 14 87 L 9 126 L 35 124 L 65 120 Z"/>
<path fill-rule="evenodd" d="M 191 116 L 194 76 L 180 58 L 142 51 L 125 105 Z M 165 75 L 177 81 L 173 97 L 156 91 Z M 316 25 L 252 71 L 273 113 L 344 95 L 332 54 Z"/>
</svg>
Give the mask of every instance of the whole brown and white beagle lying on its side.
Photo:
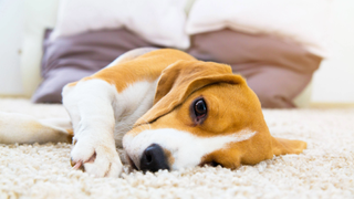
<svg viewBox="0 0 354 199">
<path fill-rule="evenodd" d="M 306 148 L 270 135 L 257 95 L 229 65 L 178 50 L 129 51 L 62 96 L 70 121 L 1 113 L 0 143 L 72 140 L 73 168 L 96 177 L 119 176 L 116 147 L 143 171 L 236 169 Z"/>
</svg>

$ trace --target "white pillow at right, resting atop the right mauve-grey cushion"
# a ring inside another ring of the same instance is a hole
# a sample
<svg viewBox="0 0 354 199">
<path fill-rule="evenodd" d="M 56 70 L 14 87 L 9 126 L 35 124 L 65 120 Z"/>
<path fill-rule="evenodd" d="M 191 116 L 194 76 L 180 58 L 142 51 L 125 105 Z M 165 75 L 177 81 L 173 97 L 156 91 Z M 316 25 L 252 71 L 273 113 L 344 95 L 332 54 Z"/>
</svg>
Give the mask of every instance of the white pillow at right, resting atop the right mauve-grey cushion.
<svg viewBox="0 0 354 199">
<path fill-rule="evenodd" d="M 197 0 L 186 27 L 188 34 L 230 28 L 291 40 L 326 55 L 326 25 L 332 0 Z"/>
</svg>

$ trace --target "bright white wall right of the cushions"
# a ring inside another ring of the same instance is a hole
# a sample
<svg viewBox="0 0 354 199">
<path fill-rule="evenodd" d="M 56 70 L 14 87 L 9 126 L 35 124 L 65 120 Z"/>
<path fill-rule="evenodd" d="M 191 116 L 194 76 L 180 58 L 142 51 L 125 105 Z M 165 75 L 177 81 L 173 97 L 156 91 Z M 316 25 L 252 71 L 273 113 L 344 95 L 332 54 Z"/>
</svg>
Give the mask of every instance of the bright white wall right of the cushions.
<svg viewBox="0 0 354 199">
<path fill-rule="evenodd" d="M 312 102 L 354 103 L 354 1 L 335 0 L 329 35 L 330 57 L 313 78 Z"/>
</svg>

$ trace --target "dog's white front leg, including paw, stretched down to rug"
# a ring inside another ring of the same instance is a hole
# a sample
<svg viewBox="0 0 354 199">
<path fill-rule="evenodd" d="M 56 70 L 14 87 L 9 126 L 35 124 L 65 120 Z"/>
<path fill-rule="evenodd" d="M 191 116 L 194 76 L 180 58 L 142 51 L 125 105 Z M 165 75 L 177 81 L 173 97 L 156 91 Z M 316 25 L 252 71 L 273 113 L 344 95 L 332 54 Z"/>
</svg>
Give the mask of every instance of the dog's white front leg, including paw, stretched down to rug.
<svg viewBox="0 0 354 199">
<path fill-rule="evenodd" d="M 74 128 L 72 165 L 96 177 L 117 177 L 122 172 L 114 140 L 115 92 L 102 80 L 81 81 L 63 90 L 63 104 Z"/>
</svg>

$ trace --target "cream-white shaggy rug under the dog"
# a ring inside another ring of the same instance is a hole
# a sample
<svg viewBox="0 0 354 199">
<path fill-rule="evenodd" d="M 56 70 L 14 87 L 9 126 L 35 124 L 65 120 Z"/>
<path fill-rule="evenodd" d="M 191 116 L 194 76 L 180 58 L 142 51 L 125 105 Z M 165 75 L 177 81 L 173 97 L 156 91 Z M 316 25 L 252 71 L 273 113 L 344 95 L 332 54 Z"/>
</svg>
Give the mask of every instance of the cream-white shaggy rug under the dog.
<svg viewBox="0 0 354 199">
<path fill-rule="evenodd" d="M 0 111 L 66 117 L 61 105 L 2 98 Z M 308 142 L 301 155 L 237 170 L 190 168 L 122 178 L 72 170 L 69 144 L 0 144 L 0 198 L 354 198 L 354 109 L 264 111 L 274 136 Z"/>
</svg>

